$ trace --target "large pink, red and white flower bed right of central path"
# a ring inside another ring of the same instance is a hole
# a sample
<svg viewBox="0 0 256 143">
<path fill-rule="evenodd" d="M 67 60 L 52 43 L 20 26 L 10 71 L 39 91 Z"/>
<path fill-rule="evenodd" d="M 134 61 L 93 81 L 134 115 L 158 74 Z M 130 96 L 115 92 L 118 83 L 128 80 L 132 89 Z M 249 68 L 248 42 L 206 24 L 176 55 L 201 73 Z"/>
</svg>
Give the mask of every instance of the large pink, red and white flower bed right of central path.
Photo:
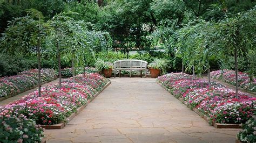
<svg viewBox="0 0 256 143">
<path fill-rule="evenodd" d="M 157 78 L 157 81 L 177 98 L 181 97 L 191 109 L 196 109 L 201 115 L 208 117 L 210 123 L 240 124 L 251 119 L 255 110 L 256 98 L 226 89 L 220 83 L 208 82 L 202 79 L 191 79 L 190 75 L 181 73 L 167 74 Z"/>
</svg>

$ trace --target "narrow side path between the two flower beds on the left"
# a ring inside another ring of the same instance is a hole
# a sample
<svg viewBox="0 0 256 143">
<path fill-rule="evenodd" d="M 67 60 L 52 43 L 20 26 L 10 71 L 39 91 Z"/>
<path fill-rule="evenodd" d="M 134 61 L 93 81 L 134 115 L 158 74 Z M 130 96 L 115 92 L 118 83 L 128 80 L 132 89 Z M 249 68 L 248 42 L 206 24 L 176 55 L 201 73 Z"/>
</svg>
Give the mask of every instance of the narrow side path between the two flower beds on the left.
<svg viewBox="0 0 256 143">
<path fill-rule="evenodd" d="M 62 78 L 62 81 L 65 80 L 65 79 L 66 78 Z M 51 82 L 43 84 L 42 87 L 46 87 L 49 84 L 58 83 L 58 82 L 59 82 L 59 78 L 57 78 L 56 80 L 53 80 Z M 33 88 L 33 89 L 28 90 L 28 91 L 22 92 L 21 94 L 18 94 L 18 95 L 15 95 L 13 97 L 4 99 L 3 101 L 0 101 L 0 106 L 4 106 L 4 105 L 7 105 L 11 102 L 17 101 L 18 99 L 21 99 L 23 96 L 28 95 L 31 92 L 36 91 L 36 90 L 38 90 L 38 88 Z"/>
</svg>

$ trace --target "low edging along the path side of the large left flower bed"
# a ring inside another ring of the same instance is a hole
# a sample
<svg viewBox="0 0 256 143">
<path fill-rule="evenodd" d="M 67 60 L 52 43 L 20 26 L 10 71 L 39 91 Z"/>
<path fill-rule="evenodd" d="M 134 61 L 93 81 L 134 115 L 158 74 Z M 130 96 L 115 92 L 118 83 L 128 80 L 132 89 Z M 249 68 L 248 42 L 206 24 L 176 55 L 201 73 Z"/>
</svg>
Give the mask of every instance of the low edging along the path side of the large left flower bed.
<svg viewBox="0 0 256 143">
<path fill-rule="evenodd" d="M 59 123 L 59 124 L 55 124 L 55 125 L 41 125 L 41 127 L 45 128 L 46 130 L 52 130 L 52 129 L 62 129 L 64 128 L 70 120 L 72 120 L 76 115 L 78 115 L 78 113 L 80 113 L 90 102 L 93 101 L 93 99 L 95 99 L 104 89 L 106 89 L 109 85 L 111 84 L 111 81 L 107 82 L 104 87 L 98 91 L 91 99 L 88 99 L 87 103 L 84 104 L 83 106 L 80 106 L 76 112 L 72 113 L 65 122 L 63 123 Z"/>
</svg>

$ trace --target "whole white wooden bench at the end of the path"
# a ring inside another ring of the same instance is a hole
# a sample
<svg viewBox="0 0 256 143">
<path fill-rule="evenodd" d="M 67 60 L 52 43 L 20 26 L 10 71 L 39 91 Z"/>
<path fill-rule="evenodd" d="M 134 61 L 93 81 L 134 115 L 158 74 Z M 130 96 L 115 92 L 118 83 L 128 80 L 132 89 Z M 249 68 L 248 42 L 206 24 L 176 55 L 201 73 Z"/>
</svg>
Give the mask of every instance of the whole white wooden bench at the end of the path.
<svg viewBox="0 0 256 143">
<path fill-rule="evenodd" d="M 121 77 L 121 70 L 130 70 L 130 77 L 132 70 L 140 70 L 140 77 L 142 77 L 142 70 L 145 70 L 145 77 L 147 77 L 147 62 L 142 60 L 114 61 L 114 77 L 116 77 L 116 70 L 119 70 L 119 77 Z"/>
</svg>

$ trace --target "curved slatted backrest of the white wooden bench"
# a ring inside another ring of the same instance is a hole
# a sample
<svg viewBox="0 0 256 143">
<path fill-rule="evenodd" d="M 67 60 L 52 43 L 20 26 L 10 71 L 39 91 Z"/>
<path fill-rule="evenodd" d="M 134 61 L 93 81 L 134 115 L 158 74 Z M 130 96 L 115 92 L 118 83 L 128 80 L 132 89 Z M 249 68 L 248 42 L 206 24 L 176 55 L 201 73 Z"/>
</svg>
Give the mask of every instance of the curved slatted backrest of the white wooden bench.
<svg viewBox="0 0 256 143">
<path fill-rule="evenodd" d="M 118 60 L 114 61 L 114 68 L 145 68 L 147 62 L 143 60 Z"/>
</svg>

